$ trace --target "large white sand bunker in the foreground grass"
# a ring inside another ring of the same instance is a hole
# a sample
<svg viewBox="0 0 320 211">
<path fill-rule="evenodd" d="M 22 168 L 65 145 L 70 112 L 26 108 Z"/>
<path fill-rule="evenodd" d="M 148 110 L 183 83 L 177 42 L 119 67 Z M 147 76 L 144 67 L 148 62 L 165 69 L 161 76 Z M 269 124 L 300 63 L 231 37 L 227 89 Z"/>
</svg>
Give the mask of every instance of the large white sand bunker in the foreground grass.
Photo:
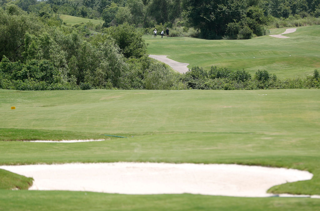
<svg viewBox="0 0 320 211">
<path fill-rule="evenodd" d="M 91 163 L 0 168 L 34 178 L 29 190 L 75 190 L 120 194 L 268 197 L 275 185 L 310 180 L 307 171 L 227 164 Z"/>
</svg>

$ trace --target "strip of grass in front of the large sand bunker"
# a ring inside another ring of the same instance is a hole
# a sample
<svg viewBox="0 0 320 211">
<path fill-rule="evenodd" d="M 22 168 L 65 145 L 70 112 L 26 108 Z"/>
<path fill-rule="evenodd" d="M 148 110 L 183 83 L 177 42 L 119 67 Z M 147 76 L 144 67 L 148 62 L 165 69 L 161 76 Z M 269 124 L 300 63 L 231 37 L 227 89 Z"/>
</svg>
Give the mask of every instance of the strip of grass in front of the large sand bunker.
<svg viewBox="0 0 320 211">
<path fill-rule="evenodd" d="M 320 200 L 310 198 L 236 198 L 220 196 L 119 195 L 70 191 L 0 190 L 0 210 L 119 210 L 119 211 L 308 211 Z"/>
</svg>

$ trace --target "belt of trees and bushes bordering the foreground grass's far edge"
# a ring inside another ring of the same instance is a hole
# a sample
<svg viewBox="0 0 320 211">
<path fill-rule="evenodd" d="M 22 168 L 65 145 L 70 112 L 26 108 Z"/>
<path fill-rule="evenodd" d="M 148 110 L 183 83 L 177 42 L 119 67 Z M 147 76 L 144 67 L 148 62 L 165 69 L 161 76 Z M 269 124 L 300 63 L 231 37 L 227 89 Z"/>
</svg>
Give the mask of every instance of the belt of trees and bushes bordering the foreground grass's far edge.
<svg viewBox="0 0 320 211">
<path fill-rule="evenodd" d="M 277 79 L 258 70 L 192 67 L 185 74 L 148 57 L 142 33 L 125 22 L 86 36 L 56 17 L 0 8 L 0 89 L 285 89 L 320 88 L 319 72 Z"/>
</svg>

